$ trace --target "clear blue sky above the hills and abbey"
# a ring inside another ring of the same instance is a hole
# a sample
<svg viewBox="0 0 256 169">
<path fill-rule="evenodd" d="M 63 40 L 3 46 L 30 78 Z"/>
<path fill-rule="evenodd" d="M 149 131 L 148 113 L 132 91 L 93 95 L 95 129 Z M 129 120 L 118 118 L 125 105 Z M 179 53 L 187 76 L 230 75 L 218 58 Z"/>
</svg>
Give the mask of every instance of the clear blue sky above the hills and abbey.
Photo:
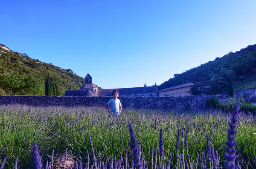
<svg viewBox="0 0 256 169">
<path fill-rule="evenodd" d="M 0 43 L 103 89 L 160 85 L 256 43 L 256 0 L 0 0 Z"/>
</svg>

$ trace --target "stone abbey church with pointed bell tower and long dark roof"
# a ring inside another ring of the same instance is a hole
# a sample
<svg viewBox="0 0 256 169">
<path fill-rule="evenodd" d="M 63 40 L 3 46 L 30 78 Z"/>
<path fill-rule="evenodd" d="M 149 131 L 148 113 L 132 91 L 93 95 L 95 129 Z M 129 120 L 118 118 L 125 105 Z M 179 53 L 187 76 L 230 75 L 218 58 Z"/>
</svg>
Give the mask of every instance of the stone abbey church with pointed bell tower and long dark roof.
<svg viewBox="0 0 256 169">
<path fill-rule="evenodd" d="M 112 96 L 113 89 L 98 89 L 96 85 L 92 83 L 92 77 L 88 73 L 85 77 L 85 83 L 80 90 L 68 90 L 65 91 L 64 96 Z M 120 88 L 117 89 L 120 96 L 158 96 L 159 90 L 157 86 L 146 87 L 132 87 L 132 88 Z"/>
</svg>

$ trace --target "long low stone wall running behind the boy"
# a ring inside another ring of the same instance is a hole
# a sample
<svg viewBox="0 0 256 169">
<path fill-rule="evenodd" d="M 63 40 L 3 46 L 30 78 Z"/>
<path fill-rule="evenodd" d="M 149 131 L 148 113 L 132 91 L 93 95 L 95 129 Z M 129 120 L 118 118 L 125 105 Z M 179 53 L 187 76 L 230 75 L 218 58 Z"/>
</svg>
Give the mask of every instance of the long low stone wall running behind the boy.
<svg viewBox="0 0 256 169">
<path fill-rule="evenodd" d="M 123 108 L 159 110 L 205 109 L 206 100 L 212 96 L 189 97 L 119 97 Z M 105 106 L 111 97 L 61 97 L 61 96 L 5 96 L 0 104 L 26 104 L 32 106 Z"/>
</svg>

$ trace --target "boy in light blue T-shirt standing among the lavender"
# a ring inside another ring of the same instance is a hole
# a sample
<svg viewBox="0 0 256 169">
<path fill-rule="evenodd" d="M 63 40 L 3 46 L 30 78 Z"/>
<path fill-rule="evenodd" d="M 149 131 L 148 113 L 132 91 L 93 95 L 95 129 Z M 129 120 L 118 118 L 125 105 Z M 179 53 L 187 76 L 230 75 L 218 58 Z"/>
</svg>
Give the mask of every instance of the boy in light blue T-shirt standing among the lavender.
<svg viewBox="0 0 256 169">
<path fill-rule="evenodd" d="M 118 116 L 122 112 L 122 104 L 120 100 L 117 98 L 119 97 L 119 92 L 116 89 L 113 90 L 112 96 L 113 98 L 108 100 L 108 103 L 105 105 L 105 107 L 109 113 L 112 112 L 114 115 Z M 108 109 L 109 107 L 111 110 Z"/>
</svg>

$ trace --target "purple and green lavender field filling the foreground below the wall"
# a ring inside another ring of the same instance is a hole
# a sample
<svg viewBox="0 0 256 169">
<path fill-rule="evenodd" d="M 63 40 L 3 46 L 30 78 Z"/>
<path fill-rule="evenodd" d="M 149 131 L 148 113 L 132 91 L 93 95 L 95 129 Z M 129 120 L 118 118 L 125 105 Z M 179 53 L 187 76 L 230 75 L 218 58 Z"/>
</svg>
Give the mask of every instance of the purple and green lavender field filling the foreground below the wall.
<svg viewBox="0 0 256 169">
<path fill-rule="evenodd" d="M 219 169 L 227 158 L 230 168 L 256 168 L 250 113 L 124 109 L 115 117 L 103 107 L 2 105 L 0 123 L 0 169 Z"/>
</svg>

